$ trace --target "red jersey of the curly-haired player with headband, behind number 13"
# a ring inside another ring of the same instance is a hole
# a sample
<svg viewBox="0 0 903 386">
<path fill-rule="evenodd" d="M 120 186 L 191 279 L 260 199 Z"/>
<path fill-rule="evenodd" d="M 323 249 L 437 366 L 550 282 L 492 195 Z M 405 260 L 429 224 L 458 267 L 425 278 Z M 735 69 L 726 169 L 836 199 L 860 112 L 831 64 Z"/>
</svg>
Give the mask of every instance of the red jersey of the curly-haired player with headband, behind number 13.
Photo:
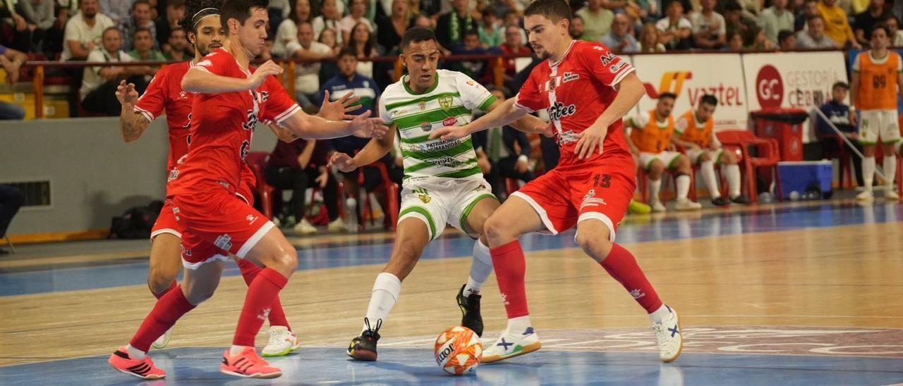
<svg viewBox="0 0 903 386">
<path fill-rule="evenodd" d="M 135 113 L 141 113 L 148 121 L 154 122 L 166 114 L 169 125 L 170 154 L 166 170 L 172 170 L 188 154 L 191 129 L 191 93 L 182 90 L 182 77 L 191 68 L 191 62 L 170 64 L 157 71 L 144 95 L 135 104 Z"/>
</svg>

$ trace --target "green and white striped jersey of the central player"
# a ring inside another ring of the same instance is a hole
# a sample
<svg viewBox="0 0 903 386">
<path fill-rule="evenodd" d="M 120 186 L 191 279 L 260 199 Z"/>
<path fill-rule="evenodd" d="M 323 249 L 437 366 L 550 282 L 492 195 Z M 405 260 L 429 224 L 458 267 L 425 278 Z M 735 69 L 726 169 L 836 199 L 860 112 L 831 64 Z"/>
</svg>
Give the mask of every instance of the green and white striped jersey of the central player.
<svg viewBox="0 0 903 386">
<path fill-rule="evenodd" d="M 379 116 L 396 124 L 405 159 L 405 181 L 483 179 L 470 135 L 459 140 L 430 139 L 433 129 L 469 124 L 476 111 L 485 112 L 496 101 L 476 80 L 457 71 L 436 70 L 436 83 L 422 94 L 414 94 L 405 75 L 386 87 L 379 98 Z"/>
</svg>

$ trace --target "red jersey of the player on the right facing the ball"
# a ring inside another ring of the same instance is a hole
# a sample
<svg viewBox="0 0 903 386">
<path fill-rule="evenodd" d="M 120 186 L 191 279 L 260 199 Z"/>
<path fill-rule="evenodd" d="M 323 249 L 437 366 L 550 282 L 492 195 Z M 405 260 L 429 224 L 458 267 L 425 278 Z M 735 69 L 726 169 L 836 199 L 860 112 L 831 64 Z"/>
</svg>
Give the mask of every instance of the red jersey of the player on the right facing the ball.
<svg viewBox="0 0 903 386">
<path fill-rule="evenodd" d="M 590 127 L 618 95 L 614 88 L 636 69 L 604 45 L 573 41 L 557 63 L 539 63 L 517 93 L 516 105 L 531 113 L 547 109 L 554 124 L 555 140 L 561 147 L 561 163 L 574 163 L 577 133 Z M 603 153 L 630 156 L 621 120 L 609 126 L 602 142 Z M 593 152 L 593 158 L 600 157 Z"/>
</svg>

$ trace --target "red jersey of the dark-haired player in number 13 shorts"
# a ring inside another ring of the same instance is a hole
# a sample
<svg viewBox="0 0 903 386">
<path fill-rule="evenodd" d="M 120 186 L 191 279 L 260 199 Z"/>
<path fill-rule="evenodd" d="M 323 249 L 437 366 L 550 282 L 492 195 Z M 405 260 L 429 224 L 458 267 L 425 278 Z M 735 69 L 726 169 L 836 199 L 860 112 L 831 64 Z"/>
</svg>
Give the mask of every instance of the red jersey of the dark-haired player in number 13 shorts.
<svg viewBox="0 0 903 386">
<path fill-rule="evenodd" d="M 228 51 L 216 49 L 195 70 L 230 78 L 248 78 Z M 253 69 L 251 69 L 253 71 Z M 218 184 L 235 192 L 257 121 L 280 124 L 301 106 L 274 77 L 256 90 L 196 94 L 191 105 L 191 145 L 182 165 L 170 172 L 169 195 L 204 191 Z"/>
</svg>

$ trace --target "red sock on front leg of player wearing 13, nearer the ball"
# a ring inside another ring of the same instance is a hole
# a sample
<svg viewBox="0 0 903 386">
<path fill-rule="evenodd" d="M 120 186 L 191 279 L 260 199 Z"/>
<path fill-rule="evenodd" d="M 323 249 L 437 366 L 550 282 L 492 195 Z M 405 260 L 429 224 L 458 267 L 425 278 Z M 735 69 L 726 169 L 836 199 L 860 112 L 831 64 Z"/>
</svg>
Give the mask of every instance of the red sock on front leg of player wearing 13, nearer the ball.
<svg viewBox="0 0 903 386">
<path fill-rule="evenodd" d="M 241 308 L 232 345 L 254 346 L 254 337 L 264 326 L 273 301 L 287 282 L 288 278 L 272 268 L 265 268 L 257 274 L 251 285 L 247 286 L 245 307 Z"/>
</svg>

